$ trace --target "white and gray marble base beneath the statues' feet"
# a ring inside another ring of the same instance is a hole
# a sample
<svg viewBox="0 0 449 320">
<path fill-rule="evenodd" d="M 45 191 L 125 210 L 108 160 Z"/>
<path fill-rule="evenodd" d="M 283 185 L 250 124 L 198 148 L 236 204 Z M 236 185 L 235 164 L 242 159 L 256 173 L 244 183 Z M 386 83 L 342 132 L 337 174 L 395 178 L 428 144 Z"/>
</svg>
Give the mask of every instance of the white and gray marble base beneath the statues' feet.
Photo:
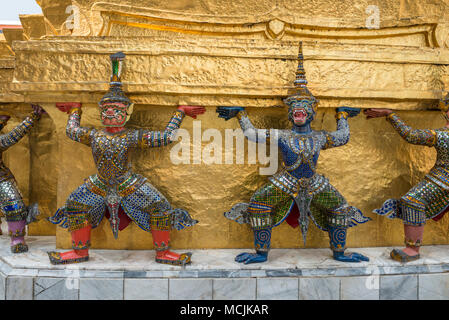
<svg viewBox="0 0 449 320">
<path fill-rule="evenodd" d="M 13 300 L 426 300 L 449 299 L 449 246 L 424 246 L 407 264 L 392 248 L 360 248 L 369 262 L 343 263 L 329 249 L 273 249 L 242 265 L 242 249 L 193 250 L 184 268 L 158 264 L 146 250 L 90 250 L 88 262 L 51 265 L 55 237 L 27 237 L 12 254 L 0 237 L 0 299 Z"/>
</svg>

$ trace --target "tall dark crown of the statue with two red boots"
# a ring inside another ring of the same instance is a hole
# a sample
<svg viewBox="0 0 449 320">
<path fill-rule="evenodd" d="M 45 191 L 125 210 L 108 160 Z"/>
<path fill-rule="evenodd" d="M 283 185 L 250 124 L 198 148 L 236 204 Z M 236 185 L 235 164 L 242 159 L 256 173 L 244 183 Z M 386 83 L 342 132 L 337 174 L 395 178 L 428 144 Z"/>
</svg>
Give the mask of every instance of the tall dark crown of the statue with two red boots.
<svg viewBox="0 0 449 320">
<path fill-rule="evenodd" d="M 111 67 L 112 74 L 109 83 L 109 91 L 100 100 L 99 105 L 103 105 L 108 102 L 121 102 L 127 105 L 131 105 L 132 102 L 125 95 L 122 90 L 121 76 L 123 71 L 123 61 L 125 60 L 125 54 L 123 52 L 117 52 L 111 54 Z"/>
</svg>

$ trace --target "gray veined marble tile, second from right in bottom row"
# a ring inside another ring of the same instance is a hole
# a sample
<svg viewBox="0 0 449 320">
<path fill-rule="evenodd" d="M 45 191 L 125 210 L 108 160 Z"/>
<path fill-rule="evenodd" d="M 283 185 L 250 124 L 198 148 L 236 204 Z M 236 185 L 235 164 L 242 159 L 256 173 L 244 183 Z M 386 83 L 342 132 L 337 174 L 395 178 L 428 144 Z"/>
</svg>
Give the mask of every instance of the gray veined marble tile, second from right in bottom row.
<svg viewBox="0 0 449 320">
<path fill-rule="evenodd" d="M 380 277 L 380 300 L 417 300 L 418 276 L 397 275 Z"/>
</svg>

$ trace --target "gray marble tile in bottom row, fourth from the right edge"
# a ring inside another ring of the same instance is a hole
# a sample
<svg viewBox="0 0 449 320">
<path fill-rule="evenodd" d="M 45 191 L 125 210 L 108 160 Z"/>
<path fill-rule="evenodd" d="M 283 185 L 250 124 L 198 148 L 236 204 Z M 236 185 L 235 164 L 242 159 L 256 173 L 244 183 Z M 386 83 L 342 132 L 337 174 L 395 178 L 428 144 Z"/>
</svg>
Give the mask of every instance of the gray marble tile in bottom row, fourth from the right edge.
<svg viewBox="0 0 449 320">
<path fill-rule="evenodd" d="M 300 300 L 339 300 L 339 278 L 301 278 L 299 279 Z"/>
</svg>

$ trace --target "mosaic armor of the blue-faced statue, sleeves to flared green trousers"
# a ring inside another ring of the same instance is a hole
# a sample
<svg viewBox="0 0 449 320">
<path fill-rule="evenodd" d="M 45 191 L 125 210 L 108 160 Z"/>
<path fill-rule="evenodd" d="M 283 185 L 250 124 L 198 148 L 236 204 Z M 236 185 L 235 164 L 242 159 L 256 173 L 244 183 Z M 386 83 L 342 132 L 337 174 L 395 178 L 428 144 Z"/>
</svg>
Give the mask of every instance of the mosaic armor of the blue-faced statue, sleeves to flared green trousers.
<svg viewBox="0 0 449 320">
<path fill-rule="evenodd" d="M 294 130 L 256 129 L 243 111 L 239 112 L 238 118 L 249 140 L 264 142 L 265 139 L 276 139 L 284 163 L 269 178 L 270 182 L 256 191 L 249 204 L 234 206 L 228 218 L 248 222 L 254 230 L 275 227 L 287 218 L 296 203 L 304 239 L 309 217 L 324 231 L 328 231 L 329 226 L 351 227 L 369 221 L 359 209 L 347 204 L 327 178 L 316 173 L 321 150 L 349 141 L 345 117 L 340 117 L 335 132 L 312 131 L 308 134 Z M 264 248 L 257 250 L 263 251 Z"/>
</svg>

